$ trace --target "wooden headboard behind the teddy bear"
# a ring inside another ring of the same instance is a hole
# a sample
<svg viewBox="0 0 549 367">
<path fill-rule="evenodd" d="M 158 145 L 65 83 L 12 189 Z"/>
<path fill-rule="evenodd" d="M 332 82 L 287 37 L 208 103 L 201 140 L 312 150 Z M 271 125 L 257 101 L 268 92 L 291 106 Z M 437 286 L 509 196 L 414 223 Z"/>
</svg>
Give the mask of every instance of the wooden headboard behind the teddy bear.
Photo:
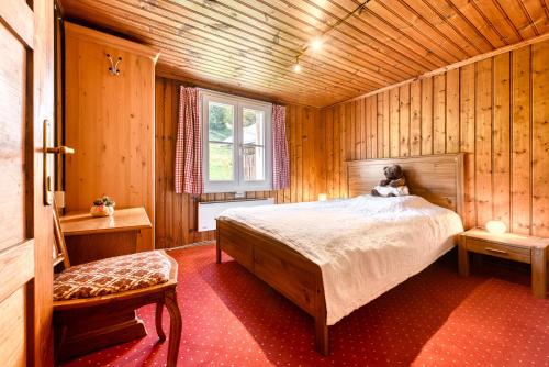
<svg viewBox="0 0 549 367">
<path fill-rule="evenodd" d="M 410 193 L 451 209 L 463 218 L 463 153 L 347 162 L 349 197 L 370 193 L 384 178 L 383 167 L 389 165 L 400 165 L 404 169 Z"/>
</svg>

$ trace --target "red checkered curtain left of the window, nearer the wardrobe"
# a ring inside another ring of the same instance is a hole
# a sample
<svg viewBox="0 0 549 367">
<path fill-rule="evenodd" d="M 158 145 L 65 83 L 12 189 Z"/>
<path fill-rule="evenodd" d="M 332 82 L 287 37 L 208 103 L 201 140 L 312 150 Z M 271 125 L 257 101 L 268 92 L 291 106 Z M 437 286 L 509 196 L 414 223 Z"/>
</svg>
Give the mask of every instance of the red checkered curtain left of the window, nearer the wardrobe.
<svg viewBox="0 0 549 367">
<path fill-rule="evenodd" d="M 193 196 L 204 192 L 198 94 L 197 88 L 180 88 L 176 140 L 176 192 Z"/>
</svg>

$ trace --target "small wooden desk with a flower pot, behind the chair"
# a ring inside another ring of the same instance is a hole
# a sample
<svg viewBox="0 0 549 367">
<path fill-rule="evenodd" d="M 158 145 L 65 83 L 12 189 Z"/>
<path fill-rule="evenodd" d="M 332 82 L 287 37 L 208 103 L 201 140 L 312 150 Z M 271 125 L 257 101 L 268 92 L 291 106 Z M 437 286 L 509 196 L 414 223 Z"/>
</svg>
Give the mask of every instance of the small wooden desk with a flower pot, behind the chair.
<svg viewBox="0 0 549 367">
<path fill-rule="evenodd" d="M 142 230 L 153 226 L 145 208 L 116 209 L 113 216 L 101 218 L 89 211 L 68 212 L 60 224 L 72 265 L 133 254 Z"/>
</svg>

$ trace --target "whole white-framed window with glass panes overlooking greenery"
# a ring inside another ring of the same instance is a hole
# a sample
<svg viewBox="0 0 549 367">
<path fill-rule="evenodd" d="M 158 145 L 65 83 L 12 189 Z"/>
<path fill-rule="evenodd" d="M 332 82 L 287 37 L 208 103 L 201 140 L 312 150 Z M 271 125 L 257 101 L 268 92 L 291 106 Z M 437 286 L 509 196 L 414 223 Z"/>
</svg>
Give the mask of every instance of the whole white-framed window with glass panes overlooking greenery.
<svg viewBox="0 0 549 367">
<path fill-rule="evenodd" d="M 272 188 L 271 104 L 201 91 L 205 192 Z"/>
</svg>

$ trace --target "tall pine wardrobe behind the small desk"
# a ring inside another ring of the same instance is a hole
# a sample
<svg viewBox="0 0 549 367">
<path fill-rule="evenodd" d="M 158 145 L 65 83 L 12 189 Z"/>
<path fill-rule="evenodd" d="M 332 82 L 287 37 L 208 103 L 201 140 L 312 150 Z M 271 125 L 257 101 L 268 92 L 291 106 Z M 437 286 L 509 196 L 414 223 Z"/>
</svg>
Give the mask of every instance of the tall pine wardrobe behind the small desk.
<svg viewBox="0 0 549 367">
<path fill-rule="evenodd" d="M 108 194 L 116 208 L 145 207 L 154 226 L 158 52 L 65 22 L 65 144 L 76 151 L 65 162 L 66 211 Z M 154 243 L 147 230 L 137 249 Z"/>
</svg>

